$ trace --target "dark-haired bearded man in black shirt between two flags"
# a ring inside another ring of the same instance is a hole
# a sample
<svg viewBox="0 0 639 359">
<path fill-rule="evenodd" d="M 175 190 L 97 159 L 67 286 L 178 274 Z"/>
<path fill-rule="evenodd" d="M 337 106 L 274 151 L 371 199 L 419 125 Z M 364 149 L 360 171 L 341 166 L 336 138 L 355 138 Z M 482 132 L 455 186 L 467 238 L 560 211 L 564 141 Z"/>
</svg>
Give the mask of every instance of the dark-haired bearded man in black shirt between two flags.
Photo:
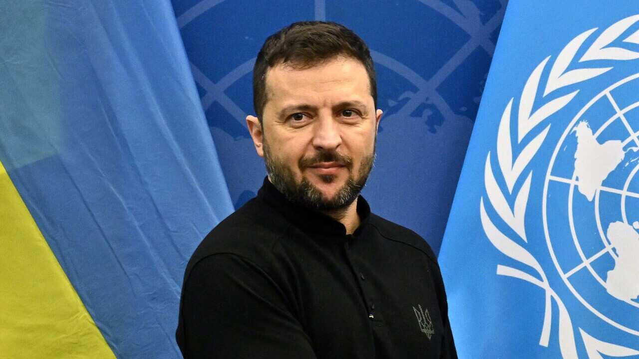
<svg viewBox="0 0 639 359">
<path fill-rule="evenodd" d="M 433 252 L 359 196 L 381 119 L 366 44 L 292 24 L 260 50 L 253 91 L 268 176 L 187 266 L 185 358 L 457 358 Z"/>
</svg>

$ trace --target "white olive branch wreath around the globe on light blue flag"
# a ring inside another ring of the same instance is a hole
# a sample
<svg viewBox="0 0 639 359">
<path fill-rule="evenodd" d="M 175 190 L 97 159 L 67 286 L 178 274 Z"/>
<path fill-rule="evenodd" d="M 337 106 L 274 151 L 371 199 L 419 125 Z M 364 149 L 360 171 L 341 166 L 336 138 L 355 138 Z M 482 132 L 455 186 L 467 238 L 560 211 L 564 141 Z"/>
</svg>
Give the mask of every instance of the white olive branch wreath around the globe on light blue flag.
<svg viewBox="0 0 639 359">
<path fill-rule="evenodd" d="M 633 15 L 619 20 L 604 29 L 577 62 L 587 63 L 587 61 L 593 60 L 626 61 L 638 59 L 639 52 L 622 47 L 609 46 L 637 21 L 639 21 L 639 15 Z M 557 89 L 579 84 L 580 82 L 593 79 L 612 70 L 613 67 L 590 67 L 567 71 L 568 66 L 573 63 L 578 50 L 581 49 L 587 38 L 597 31 L 597 29 L 598 28 L 595 27 L 579 34 L 560 51 L 550 68 L 550 73 L 548 73 L 546 80 L 546 88 L 541 98 L 546 98 L 546 96 L 551 95 Z M 622 40 L 622 42 L 639 45 L 639 31 L 631 34 Z M 537 259 L 525 248 L 528 240 L 526 238 L 524 219 L 528 195 L 530 194 L 530 181 L 532 179 L 532 169 L 526 171 L 527 166 L 537 151 L 539 151 L 539 148 L 541 148 L 541 145 L 546 139 L 546 135 L 548 135 L 548 130 L 550 130 L 550 123 L 543 124 L 544 120 L 564 108 L 579 92 L 579 89 L 576 89 L 567 95 L 553 98 L 532 112 L 533 105 L 537 100 L 537 91 L 539 89 L 541 75 L 546 65 L 548 65 L 550 58 L 551 56 L 546 57 L 537 65 L 532 73 L 530 73 L 519 99 L 518 116 L 511 116 L 512 102 L 514 100 L 514 98 L 511 98 L 504 109 L 497 130 L 497 164 L 504 178 L 507 193 L 513 195 L 515 184 L 520 178 L 525 177 L 523 185 L 521 185 L 516 194 L 514 194 L 514 206 L 511 207 L 509 205 L 505 193 L 498 185 L 497 179 L 495 179 L 495 171 L 493 171 L 491 164 L 490 151 L 486 156 L 486 165 L 484 167 L 484 183 L 486 185 L 488 202 L 492 205 L 497 215 L 512 229 L 514 234 L 516 234 L 516 236 L 511 235 L 511 237 L 520 239 L 523 243 L 518 243 L 518 241 L 504 234 L 493 224 L 484 207 L 484 196 L 481 197 L 479 209 L 484 232 L 495 248 L 506 256 L 532 268 L 537 276 L 527 271 L 502 264 L 497 265 L 497 274 L 525 280 L 535 284 L 535 286 L 541 287 L 546 292 L 544 321 L 539 345 L 548 346 L 552 320 L 552 300 L 555 300 L 559 312 L 558 340 L 561 355 L 564 359 L 572 359 L 578 358 L 578 355 L 573 324 L 569 312 L 561 298 L 550 287 L 546 273 L 544 273 Z M 517 128 L 517 141 L 514 144 L 511 143 L 511 123 L 515 124 Z M 541 130 L 539 134 L 534 135 L 534 137 L 532 135 L 527 136 L 532 130 L 543 126 L 545 126 L 545 128 Z M 532 137 L 532 139 L 529 139 L 530 137 Z M 519 155 L 513 159 L 514 149 L 520 146 L 523 146 L 523 149 Z M 527 172 L 527 176 L 525 172 Z M 639 351 L 635 349 L 597 340 L 583 329 L 579 328 L 579 330 L 590 359 L 603 359 L 601 354 L 615 357 L 639 354 Z"/>
</svg>

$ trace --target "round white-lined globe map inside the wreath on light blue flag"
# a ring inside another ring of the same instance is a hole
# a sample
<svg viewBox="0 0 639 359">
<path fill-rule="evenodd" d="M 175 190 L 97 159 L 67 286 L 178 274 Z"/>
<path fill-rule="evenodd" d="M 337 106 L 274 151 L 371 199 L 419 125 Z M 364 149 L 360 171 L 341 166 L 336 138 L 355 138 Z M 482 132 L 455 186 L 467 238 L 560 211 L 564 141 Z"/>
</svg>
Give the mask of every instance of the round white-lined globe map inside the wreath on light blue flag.
<svg viewBox="0 0 639 359">
<path fill-rule="evenodd" d="M 639 178 L 635 179 L 639 139 L 632 128 L 639 129 L 639 123 L 631 119 L 639 102 L 620 108 L 613 94 L 636 98 L 629 91 L 638 88 L 637 77 L 599 93 L 567 126 L 550 160 L 543 206 L 548 248 L 566 286 L 593 314 L 635 335 L 639 335 Z M 589 110 L 598 102 L 606 102 L 611 114 L 600 120 L 598 128 L 590 128 L 594 121 L 585 118 L 593 117 Z M 571 156 L 557 156 L 561 151 Z M 574 168 L 572 176 L 560 174 L 565 168 Z M 561 207 L 566 210 L 548 215 L 551 208 Z M 566 246 L 567 238 L 572 246 Z M 597 304 L 602 296 L 612 298 Z"/>
</svg>

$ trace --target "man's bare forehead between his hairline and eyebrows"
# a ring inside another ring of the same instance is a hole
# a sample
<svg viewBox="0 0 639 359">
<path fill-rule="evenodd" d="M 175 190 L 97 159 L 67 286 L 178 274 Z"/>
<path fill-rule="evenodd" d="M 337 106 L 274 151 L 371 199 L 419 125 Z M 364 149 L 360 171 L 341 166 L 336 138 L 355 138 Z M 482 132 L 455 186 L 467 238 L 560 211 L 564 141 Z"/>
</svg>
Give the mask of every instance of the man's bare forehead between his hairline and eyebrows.
<svg viewBox="0 0 639 359">
<path fill-rule="evenodd" d="M 370 80 L 366 68 L 357 59 L 335 57 L 309 68 L 296 68 L 279 64 L 266 73 L 268 105 L 284 105 L 284 102 L 302 100 L 353 100 L 372 103 Z"/>
</svg>

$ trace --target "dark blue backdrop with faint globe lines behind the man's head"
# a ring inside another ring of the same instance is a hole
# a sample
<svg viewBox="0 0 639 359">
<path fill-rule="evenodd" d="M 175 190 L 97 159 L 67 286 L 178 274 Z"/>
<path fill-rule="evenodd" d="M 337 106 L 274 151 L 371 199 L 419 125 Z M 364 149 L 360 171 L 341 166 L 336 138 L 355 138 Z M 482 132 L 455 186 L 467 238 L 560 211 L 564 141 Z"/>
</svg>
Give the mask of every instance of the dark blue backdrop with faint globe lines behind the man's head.
<svg viewBox="0 0 639 359">
<path fill-rule="evenodd" d="M 437 252 L 504 15 L 502 2 L 183 3 L 176 6 L 178 25 L 236 206 L 254 195 L 265 173 L 245 129 L 254 56 L 268 34 L 290 22 L 334 20 L 371 48 L 385 112 L 376 169 L 364 194 L 384 193 L 370 199 L 379 214 L 422 234 Z"/>
</svg>

